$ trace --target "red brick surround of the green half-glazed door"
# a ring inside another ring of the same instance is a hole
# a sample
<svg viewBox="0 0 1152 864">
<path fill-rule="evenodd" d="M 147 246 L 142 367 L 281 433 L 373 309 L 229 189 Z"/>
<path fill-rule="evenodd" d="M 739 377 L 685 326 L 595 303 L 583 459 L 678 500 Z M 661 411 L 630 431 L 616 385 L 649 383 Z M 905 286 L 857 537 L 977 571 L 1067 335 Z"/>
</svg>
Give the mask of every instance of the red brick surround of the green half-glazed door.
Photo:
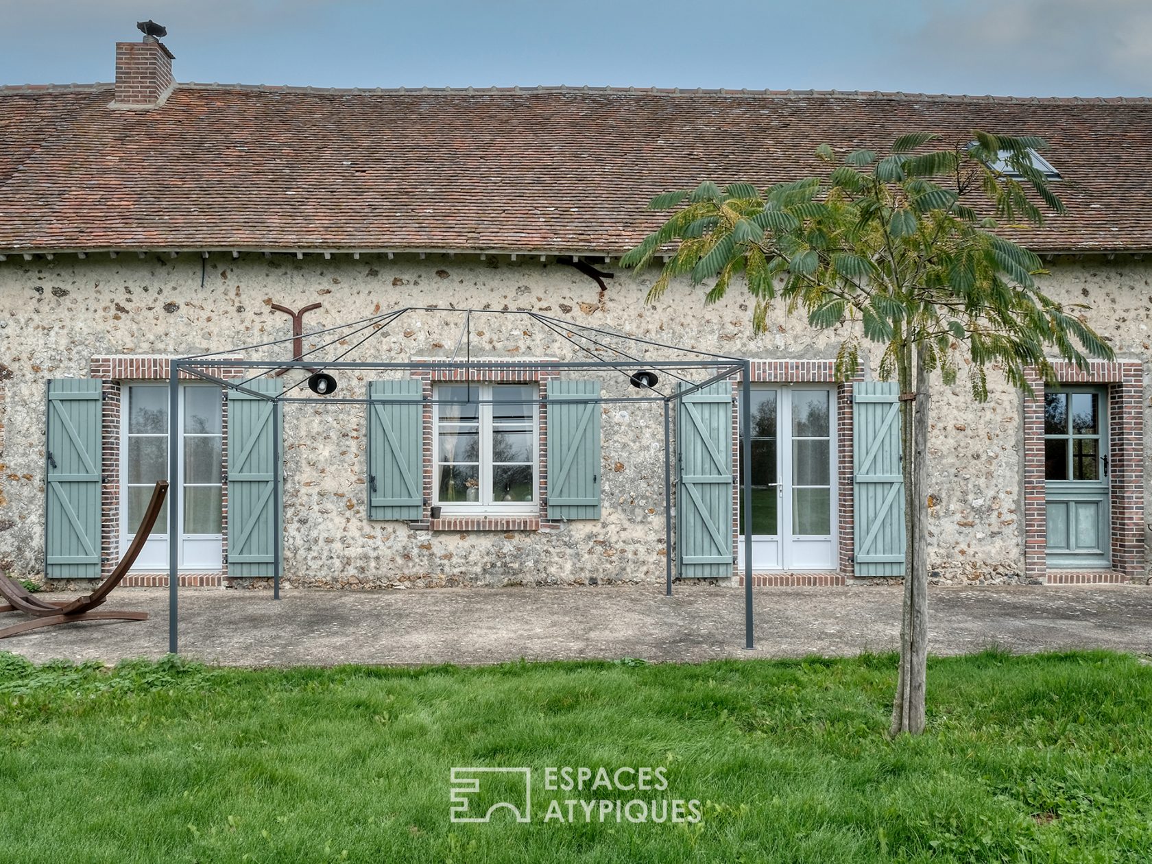
<svg viewBox="0 0 1152 864">
<path fill-rule="evenodd" d="M 1092 361 L 1085 370 L 1053 363 L 1061 384 L 1108 387 L 1111 450 L 1112 573 L 1144 575 L 1144 365 L 1139 361 Z M 1047 569 L 1047 518 L 1044 480 L 1044 381 L 1032 371 L 1032 396 L 1024 396 L 1024 576 L 1064 583 Z M 1092 579 L 1098 581 L 1098 579 Z"/>
</svg>

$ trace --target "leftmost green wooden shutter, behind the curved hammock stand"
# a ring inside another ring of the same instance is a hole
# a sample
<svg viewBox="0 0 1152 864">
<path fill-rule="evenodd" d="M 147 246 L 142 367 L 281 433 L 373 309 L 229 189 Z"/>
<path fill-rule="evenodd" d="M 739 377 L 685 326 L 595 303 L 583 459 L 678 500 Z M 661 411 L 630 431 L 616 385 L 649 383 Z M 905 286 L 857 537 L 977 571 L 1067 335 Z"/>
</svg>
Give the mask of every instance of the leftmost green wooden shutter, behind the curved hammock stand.
<svg viewBox="0 0 1152 864">
<path fill-rule="evenodd" d="M 100 431 L 103 381 L 48 381 L 45 462 L 45 574 L 100 576 Z"/>
</svg>

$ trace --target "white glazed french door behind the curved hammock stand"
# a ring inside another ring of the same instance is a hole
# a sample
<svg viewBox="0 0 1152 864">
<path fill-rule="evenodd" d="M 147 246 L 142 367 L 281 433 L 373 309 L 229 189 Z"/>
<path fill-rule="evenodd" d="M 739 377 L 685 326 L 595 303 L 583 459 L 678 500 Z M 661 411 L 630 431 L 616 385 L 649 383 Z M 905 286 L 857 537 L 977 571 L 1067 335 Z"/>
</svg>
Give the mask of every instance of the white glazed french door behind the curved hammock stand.
<svg viewBox="0 0 1152 864">
<path fill-rule="evenodd" d="M 168 386 L 127 384 L 121 404 L 120 551 L 136 536 L 157 480 L 168 477 Z M 175 501 L 181 532 L 181 570 L 218 571 L 222 566 L 222 410 L 220 388 L 180 387 L 176 488 L 149 535 L 132 569 L 168 569 L 168 506 Z"/>
</svg>

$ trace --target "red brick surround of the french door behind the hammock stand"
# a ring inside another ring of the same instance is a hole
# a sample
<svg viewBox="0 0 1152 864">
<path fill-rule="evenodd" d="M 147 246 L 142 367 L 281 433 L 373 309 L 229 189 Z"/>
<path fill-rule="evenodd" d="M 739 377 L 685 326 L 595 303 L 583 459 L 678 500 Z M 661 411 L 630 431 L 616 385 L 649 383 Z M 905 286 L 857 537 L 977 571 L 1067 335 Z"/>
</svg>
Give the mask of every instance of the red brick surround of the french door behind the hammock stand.
<svg viewBox="0 0 1152 864">
<path fill-rule="evenodd" d="M 92 357 L 89 364 L 89 376 L 104 381 L 103 427 L 103 468 L 104 487 L 100 494 L 100 576 L 106 577 L 120 561 L 120 494 L 121 494 L 121 438 L 120 419 L 122 404 L 122 384 L 132 381 L 168 380 L 169 359 L 162 356 L 107 355 Z M 240 357 L 221 357 L 218 359 L 241 359 Z M 241 378 L 243 371 L 236 366 L 214 366 L 206 372 L 218 378 Z M 181 372 L 182 381 L 202 380 L 190 372 Z M 223 465 L 228 465 L 228 399 L 221 394 L 221 456 Z M 227 471 L 225 472 L 227 478 Z M 223 535 L 223 560 L 228 560 L 228 482 L 223 480 L 221 488 L 221 533 Z M 181 584 L 219 585 L 227 573 L 227 563 L 220 574 L 181 574 Z M 130 574 L 122 583 L 124 585 L 167 585 L 167 574 Z"/>
</svg>

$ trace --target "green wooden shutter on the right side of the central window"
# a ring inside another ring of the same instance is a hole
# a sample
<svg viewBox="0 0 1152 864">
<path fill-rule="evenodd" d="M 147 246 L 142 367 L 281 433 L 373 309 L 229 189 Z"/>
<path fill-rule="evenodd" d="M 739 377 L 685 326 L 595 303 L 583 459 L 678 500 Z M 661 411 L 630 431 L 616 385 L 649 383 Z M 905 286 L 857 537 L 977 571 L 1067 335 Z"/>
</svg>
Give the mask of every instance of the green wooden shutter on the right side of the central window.
<svg viewBox="0 0 1152 864">
<path fill-rule="evenodd" d="M 599 381 L 548 381 L 548 518 L 600 518 L 599 397 Z"/>
</svg>

